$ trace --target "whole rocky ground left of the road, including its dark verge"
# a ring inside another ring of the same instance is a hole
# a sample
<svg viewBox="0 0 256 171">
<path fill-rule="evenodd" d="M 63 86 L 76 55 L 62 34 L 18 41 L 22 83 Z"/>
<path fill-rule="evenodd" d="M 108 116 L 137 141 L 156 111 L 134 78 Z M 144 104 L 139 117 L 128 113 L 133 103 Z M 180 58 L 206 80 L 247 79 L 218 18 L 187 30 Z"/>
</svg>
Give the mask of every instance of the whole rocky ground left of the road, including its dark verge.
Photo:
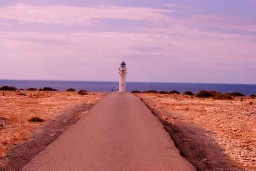
<svg viewBox="0 0 256 171">
<path fill-rule="evenodd" d="M 105 93 L 5 92 L 0 97 L 0 168 L 19 170 L 75 123 Z M 30 122 L 39 117 L 45 122 Z M 1 170 L 1 169 L 0 169 Z"/>
</svg>

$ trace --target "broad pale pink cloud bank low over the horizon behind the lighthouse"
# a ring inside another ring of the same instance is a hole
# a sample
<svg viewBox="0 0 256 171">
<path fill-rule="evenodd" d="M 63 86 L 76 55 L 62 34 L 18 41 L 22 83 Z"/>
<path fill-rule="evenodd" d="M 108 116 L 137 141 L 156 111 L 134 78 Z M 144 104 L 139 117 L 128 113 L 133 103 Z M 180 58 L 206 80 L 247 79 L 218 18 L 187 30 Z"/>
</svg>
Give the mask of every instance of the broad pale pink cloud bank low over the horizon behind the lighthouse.
<svg viewBox="0 0 256 171">
<path fill-rule="evenodd" d="M 221 74 L 237 68 L 244 71 L 256 65 L 255 43 L 248 41 L 251 36 L 193 32 L 181 27 L 168 31 L 174 34 L 161 34 L 156 30 L 144 33 L 0 32 L 1 57 L 5 63 L 0 71 L 9 73 L 5 75 L 9 79 L 24 73 L 19 79 L 115 80 L 118 78 L 115 67 L 125 59 L 131 63 L 129 77 L 132 80 L 152 81 L 145 79 L 152 73 L 155 81 L 193 81 L 172 77 L 172 74 L 168 78 L 164 76 L 166 72 L 186 74 L 187 70 L 195 74 L 198 72 L 195 68 L 205 74 L 211 71 Z M 141 66 L 136 69 L 137 65 L 143 66 L 143 70 Z M 156 70 L 152 72 L 152 68 Z M 10 70 L 11 73 L 7 72 Z M 205 78 L 203 75 L 194 78 L 207 82 L 207 74 Z M 229 81 L 236 82 L 237 78 Z"/>
</svg>

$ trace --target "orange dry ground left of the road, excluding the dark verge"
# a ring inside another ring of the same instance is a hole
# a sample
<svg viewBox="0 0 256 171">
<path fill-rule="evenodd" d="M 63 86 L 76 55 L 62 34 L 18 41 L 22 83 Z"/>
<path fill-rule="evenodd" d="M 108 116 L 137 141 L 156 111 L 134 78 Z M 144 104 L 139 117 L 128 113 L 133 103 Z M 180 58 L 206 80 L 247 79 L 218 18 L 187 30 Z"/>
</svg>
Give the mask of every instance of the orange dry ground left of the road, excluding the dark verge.
<svg viewBox="0 0 256 171">
<path fill-rule="evenodd" d="M 24 93 L 25 95 L 19 95 Z M 26 141 L 38 127 L 49 123 L 67 106 L 95 104 L 105 93 L 78 95 L 77 92 L 5 91 L 0 94 L 0 157 L 14 144 Z M 86 113 L 86 112 L 84 112 Z M 39 117 L 45 122 L 29 122 Z"/>
</svg>

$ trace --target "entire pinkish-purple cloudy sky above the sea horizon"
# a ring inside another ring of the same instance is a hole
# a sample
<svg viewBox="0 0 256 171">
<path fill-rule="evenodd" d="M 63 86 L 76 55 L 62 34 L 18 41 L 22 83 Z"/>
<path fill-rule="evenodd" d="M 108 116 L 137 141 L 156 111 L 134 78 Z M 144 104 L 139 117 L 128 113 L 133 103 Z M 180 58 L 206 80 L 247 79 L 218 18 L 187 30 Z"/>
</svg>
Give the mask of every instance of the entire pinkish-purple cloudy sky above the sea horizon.
<svg viewBox="0 0 256 171">
<path fill-rule="evenodd" d="M 0 79 L 256 84 L 256 0 L 1 0 Z"/>
</svg>

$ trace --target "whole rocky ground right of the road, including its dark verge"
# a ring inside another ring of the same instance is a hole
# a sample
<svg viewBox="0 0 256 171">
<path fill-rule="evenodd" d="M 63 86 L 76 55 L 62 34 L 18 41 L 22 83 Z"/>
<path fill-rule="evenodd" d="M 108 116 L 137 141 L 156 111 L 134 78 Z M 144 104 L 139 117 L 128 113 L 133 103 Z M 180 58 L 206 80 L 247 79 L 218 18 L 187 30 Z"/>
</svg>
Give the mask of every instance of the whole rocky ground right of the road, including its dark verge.
<svg viewBox="0 0 256 171">
<path fill-rule="evenodd" d="M 256 170 L 255 99 L 138 93 L 198 170 Z"/>
</svg>

